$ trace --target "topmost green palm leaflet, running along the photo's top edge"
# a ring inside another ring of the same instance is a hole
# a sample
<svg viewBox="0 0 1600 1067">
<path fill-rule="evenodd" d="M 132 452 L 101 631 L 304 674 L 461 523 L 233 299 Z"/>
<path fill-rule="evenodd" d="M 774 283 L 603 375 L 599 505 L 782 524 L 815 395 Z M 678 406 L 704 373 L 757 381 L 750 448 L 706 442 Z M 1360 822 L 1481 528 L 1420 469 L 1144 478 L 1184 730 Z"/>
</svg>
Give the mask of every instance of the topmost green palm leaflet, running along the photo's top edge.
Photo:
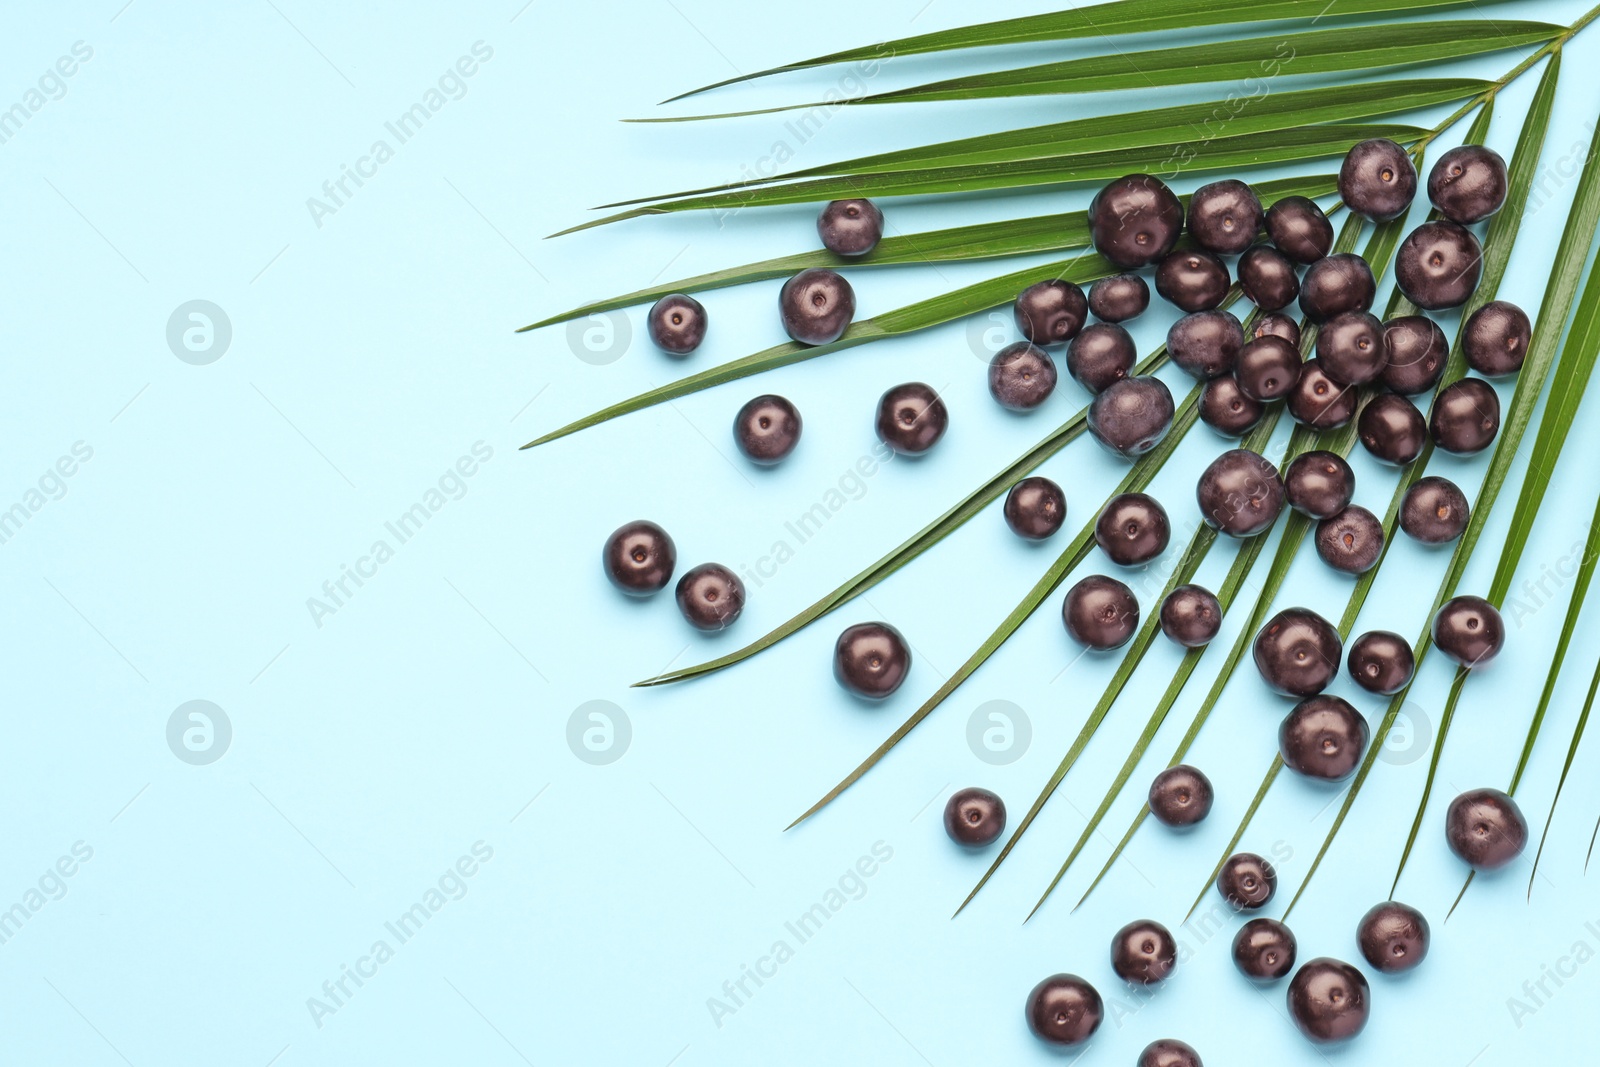
<svg viewBox="0 0 1600 1067">
<path fill-rule="evenodd" d="M 1336 14 L 1397 14 L 1403 11 L 1426 11 L 1434 8 L 1462 6 L 1467 0 L 1344 0 Z M 1494 0 L 1488 0 L 1493 3 Z M 1474 3 L 1472 6 L 1480 6 Z M 1234 22 L 1280 22 L 1293 19 L 1312 19 L 1326 13 L 1326 8 L 1312 11 L 1304 0 L 1122 0 L 1122 3 L 1101 3 L 1088 8 L 1072 8 L 1067 11 L 1050 11 L 1046 14 L 1029 14 L 981 26 L 963 26 L 960 29 L 902 37 L 899 40 L 835 51 L 814 59 L 744 74 L 725 82 L 715 82 L 688 93 L 674 96 L 669 101 L 683 99 L 752 78 L 763 78 L 789 70 L 806 70 L 840 62 L 882 62 L 890 56 L 915 56 L 934 51 L 950 51 L 958 48 L 989 48 L 994 45 L 1024 45 L 1030 42 L 1074 40 L 1085 37 L 1110 37 L 1120 34 L 1154 34 L 1158 30 L 1195 29 L 1202 26 L 1229 26 Z"/>
</svg>

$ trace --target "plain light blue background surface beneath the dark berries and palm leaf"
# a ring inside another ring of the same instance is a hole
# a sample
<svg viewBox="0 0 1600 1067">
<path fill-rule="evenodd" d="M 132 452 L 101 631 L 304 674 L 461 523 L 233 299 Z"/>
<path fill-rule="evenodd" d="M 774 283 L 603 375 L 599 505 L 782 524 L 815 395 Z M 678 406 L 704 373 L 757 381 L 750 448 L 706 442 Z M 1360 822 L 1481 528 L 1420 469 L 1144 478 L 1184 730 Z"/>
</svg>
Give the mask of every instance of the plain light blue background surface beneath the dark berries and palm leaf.
<svg viewBox="0 0 1600 1067">
<path fill-rule="evenodd" d="M 1179 931 L 1192 957 L 1138 1011 L 1106 960 L 1112 929 L 1131 918 L 1176 928 L 1272 757 L 1285 704 L 1248 669 L 1192 752 L 1219 789 L 1213 817 L 1182 838 L 1147 827 L 1078 913 L 1070 905 L 1142 785 L 1104 824 L 1110 837 L 1096 838 L 1058 896 L 1021 925 L 1170 678 L 1178 654 L 1166 643 L 955 921 L 950 912 L 989 857 L 958 854 L 939 827 L 944 797 L 965 784 L 1002 792 L 1013 817 L 1026 811 L 1110 677 L 1112 659 L 1074 661 L 1058 598 L 866 781 L 781 833 L 1054 557 L 1059 545 L 1013 537 L 997 509 L 754 664 L 678 688 L 627 688 L 754 638 L 877 558 L 1077 410 L 1075 386 L 1032 418 L 1000 411 L 986 395 L 974 333 L 957 323 L 517 451 L 600 405 L 776 342 L 776 283 L 707 298 L 710 339 L 683 366 L 650 349 L 642 309 L 629 312 L 629 350 L 608 365 L 576 358 L 563 328 L 515 336 L 514 326 L 656 278 L 814 246 L 810 208 L 747 213 L 725 227 L 698 216 L 541 240 L 587 206 L 736 178 L 776 141 L 790 142 L 795 166 L 814 165 L 1182 94 L 862 109 L 798 144 L 784 115 L 616 120 L 736 69 L 958 26 L 979 18 L 974 8 L 120 5 L 14 5 L 0 38 L 0 107 L 22 99 L 74 42 L 93 48 L 64 96 L 0 146 L 0 506 L 21 501 L 74 443 L 93 450 L 64 496 L 0 545 L 10 619 L 0 907 L 24 899 L 74 843 L 93 849 L 64 880 L 66 894 L 0 945 L 0 1061 L 1053 1062 L 1026 1032 L 1021 1005 L 1059 969 L 1115 998 L 1083 1064 L 1130 1064 L 1157 1037 L 1192 1041 L 1213 1065 L 1323 1059 L 1288 1024 L 1282 985 L 1258 995 L 1234 971 L 1237 920 L 1210 939 Z M 982 16 L 1048 6 L 997 0 Z M 1514 6 L 1520 18 L 1568 22 L 1586 5 Z M 1510 5 L 1490 11 L 1504 16 Z M 307 198 L 386 138 L 384 123 L 475 42 L 493 56 L 464 80 L 464 96 L 318 226 Z M 1493 77 L 1517 58 L 1435 70 Z M 984 62 L 992 58 L 914 59 L 880 83 Z M 774 80 L 696 106 L 805 99 L 835 77 Z M 1506 152 L 1534 78 L 1502 94 L 1490 139 Z M 1547 166 L 1582 154 L 1597 93 L 1592 32 L 1568 48 Z M 1554 173 L 1549 189 L 1502 288 L 1530 310 L 1571 197 Z M 1082 206 L 1086 195 L 891 203 L 890 218 L 894 230 L 915 232 Z M 1018 266 L 898 269 L 854 283 L 866 315 Z M 216 302 L 232 323 L 230 347 L 206 366 L 174 358 L 165 338 L 168 317 L 190 299 Z M 1139 320 L 1141 347 L 1168 322 L 1168 312 Z M 672 531 L 682 566 L 755 563 L 786 537 L 787 518 L 870 450 L 877 395 L 907 379 L 946 392 L 946 442 L 877 472 L 861 499 L 750 589 L 731 633 L 699 637 L 669 597 L 629 603 L 605 584 L 600 542 L 642 515 Z M 800 450 L 771 472 L 741 462 L 728 434 L 739 403 L 765 390 L 794 398 L 806 421 Z M 1590 397 L 1581 413 L 1520 576 L 1539 577 L 1584 536 L 1597 403 Z M 1182 531 L 1194 477 L 1216 448 L 1206 430 L 1194 437 L 1154 490 Z M 493 454 L 459 499 L 408 544 L 390 539 L 394 558 L 317 625 L 307 598 L 387 539 L 384 523 L 478 442 Z M 1365 456 L 1354 464 L 1358 501 L 1381 510 L 1394 474 Z M 1434 469 L 1470 494 L 1486 464 L 1440 458 Z M 1523 466 L 1525 456 L 1464 590 L 1488 584 Z M 1075 530 L 1122 467 L 1082 442 L 1045 472 L 1067 488 Z M 1232 552 L 1219 545 L 1202 581 L 1216 584 Z M 1397 544 L 1358 629 L 1413 637 L 1443 565 L 1443 553 Z M 1096 557 L 1086 569 L 1102 566 Z M 1301 560 L 1282 603 L 1336 614 L 1347 590 L 1349 581 Z M 1504 657 L 1469 685 L 1400 886 L 1400 899 L 1435 921 L 1432 955 L 1406 979 L 1374 979 L 1366 1035 L 1328 1053 L 1330 1062 L 1566 1062 L 1589 1046 L 1600 968 L 1579 968 L 1520 1025 L 1507 998 L 1525 997 L 1523 982 L 1574 942 L 1600 949 L 1600 928 L 1586 926 L 1600 921 L 1600 904 L 1582 877 L 1600 809 L 1592 750 L 1568 782 L 1531 905 L 1522 865 L 1480 878 L 1442 921 L 1462 873 L 1442 840 L 1443 805 L 1459 789 L 1504 787 L 1563 609 L 1565 592 L 1512 624 Z M 827 669 L 837 630 L 867 617 L 899 624 L 917 651 L 909 685 L 872 709 L 845 697 Z M 1136 782 L 1171 752 L 1238 625 L 1224 629 Z M 1597 627 L 1590 613 L 1522 790 L 1536 825 Z M 1426 665 L 1414 689 L 1424 717 L 1437 718 L 1448 677 L 1437 657 Z M 1336 689 L 1370 717 L 1381 712 L 1347 681 Z M 170 715 L 192 699 L 221 705 L 234 731 L 205 766 L 166 744 Z M 570 715 L 592 699 L 614 701 L 632 723 L 630 747 L 608 766 L 574 758 L 566 744 Z M 1008 766 L 981 763 L 965 741 L 968 717 L 990 699 L 1013 701 L 1032 721 L 1030 749 Z M 1302 958 L 1355 960 L 1355 920 L 1387 889 L 1426 768 L 1424 750 L 1403 741 L 1390 755 L 1296 910 Z M 1246 846 L 1288 856 L 1285 891 L 1299 885 L 1336 797 L 1285 776 L 1250 830 Z M 464 896 L 318 1027 L 307 998 L 389 937 L 384 923 L 477 841 L 493 857 L 462 880 Z M 878 841 L 893 859 L 861 899 L 718 1027 L 707 998 Z"/>
</svg>

